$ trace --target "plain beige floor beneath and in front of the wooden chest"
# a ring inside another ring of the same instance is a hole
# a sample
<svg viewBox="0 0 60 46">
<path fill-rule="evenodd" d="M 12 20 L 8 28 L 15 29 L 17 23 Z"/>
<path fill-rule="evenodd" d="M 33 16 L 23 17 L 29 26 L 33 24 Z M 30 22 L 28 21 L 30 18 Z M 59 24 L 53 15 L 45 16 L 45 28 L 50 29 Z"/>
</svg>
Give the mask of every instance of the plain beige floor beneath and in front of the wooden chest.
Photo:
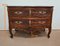
<svg viewBox="0 0 60 46">
<path fill-rule="evenodd" d="M 0 31 L 0 46 L 60 46 L 60 31 L 52 31 L 49 39 L 46 36 L 11 39 L 8 31 Z"/>
</svg>

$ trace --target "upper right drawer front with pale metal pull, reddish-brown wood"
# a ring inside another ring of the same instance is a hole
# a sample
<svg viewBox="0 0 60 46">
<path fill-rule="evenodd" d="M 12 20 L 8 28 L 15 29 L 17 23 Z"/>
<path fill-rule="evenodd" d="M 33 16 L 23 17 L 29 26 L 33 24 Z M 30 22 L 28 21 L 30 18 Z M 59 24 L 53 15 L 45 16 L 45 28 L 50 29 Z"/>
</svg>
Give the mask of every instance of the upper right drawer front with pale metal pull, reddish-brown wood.
<svg viewBox="0 0 60 46">
<path fill-rule="evenodd" d="M 49 17 L 51 16 L 50 8 L 33 8 L 31 9 L 32 17 Z"/>
</svg>

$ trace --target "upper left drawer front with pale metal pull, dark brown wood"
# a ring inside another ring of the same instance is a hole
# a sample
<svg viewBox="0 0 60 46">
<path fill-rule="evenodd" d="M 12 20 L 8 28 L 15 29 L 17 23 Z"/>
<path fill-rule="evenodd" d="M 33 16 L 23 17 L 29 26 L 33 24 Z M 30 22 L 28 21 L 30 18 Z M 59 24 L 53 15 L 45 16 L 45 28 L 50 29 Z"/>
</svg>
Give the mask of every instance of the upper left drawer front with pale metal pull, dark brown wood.
<svg viewBox="0 0 60 46">
<path fill-rule="evenodd" d="M 27 8 L 8 8 L 8 14 L 12 17 L 28 17 L 29 10 Z"/>
</svg>

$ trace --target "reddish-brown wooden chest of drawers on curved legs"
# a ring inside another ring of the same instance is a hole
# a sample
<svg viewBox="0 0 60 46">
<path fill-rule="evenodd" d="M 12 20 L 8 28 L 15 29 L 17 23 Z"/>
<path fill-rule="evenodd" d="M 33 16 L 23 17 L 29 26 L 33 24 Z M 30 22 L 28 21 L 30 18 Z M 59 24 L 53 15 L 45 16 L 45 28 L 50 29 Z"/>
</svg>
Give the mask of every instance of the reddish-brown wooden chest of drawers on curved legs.
<svg viewBox="0 0 60 46">
<path fill-rule="evenodd" d="M 7 8 L 11 38 L 13 28 L 48 28 L 47 36 L 50 37 L 53 6 L 8 6 Z"/>
</svg>

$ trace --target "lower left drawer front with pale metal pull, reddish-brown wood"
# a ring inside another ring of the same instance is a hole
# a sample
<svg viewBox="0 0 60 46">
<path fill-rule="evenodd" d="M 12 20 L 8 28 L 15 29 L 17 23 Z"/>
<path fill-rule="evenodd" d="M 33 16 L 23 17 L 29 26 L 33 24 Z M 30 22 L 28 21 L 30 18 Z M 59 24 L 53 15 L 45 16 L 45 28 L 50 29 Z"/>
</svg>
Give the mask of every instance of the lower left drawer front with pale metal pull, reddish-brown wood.
<svg viewBox="0 0 60 46">
<path fill-rule="evenodd" d="M 29 20 L 12 20 L 10 23 L 14 28 L 25 28 L 29 25 Z"/>
</svg>

